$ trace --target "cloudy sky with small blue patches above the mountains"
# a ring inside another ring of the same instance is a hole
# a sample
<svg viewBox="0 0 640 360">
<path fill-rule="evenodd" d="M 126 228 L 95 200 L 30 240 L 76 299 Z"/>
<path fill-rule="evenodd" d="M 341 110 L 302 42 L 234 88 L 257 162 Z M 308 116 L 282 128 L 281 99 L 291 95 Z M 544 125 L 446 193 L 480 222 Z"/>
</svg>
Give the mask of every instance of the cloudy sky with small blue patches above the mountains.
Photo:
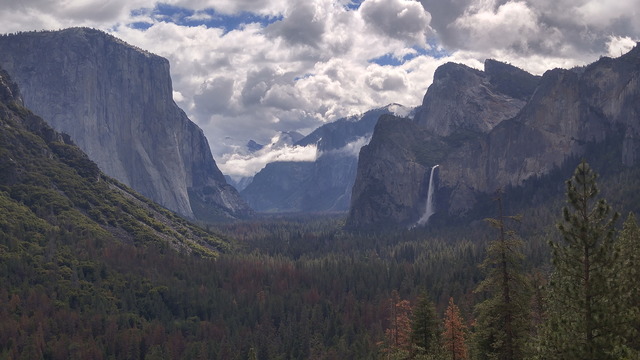
<svg viewBox="0 0 640 360">
<path fill-rule="evenodd" d="M 541 75 L 640 40 L 640 0 L 2 0 L 0 33 L 88 26 L 167 58 L 174 100 L 225 174 L 315 149 L 265 147 L 341 117 L 420 105 L 435 69 L 491 58 Z"/>
</svg>

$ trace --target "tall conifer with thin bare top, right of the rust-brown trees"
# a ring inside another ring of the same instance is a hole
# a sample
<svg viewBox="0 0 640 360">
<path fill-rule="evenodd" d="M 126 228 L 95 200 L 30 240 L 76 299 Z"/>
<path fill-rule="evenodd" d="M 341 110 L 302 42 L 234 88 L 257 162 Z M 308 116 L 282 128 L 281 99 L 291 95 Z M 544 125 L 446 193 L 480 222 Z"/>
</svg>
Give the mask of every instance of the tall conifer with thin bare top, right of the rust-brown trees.
<svg viewBox="0 0 640 360">
<path fill-rule="evenodd" d="M 522 272 L 522 240 L 505 225 L 505 219 L 520 217 L 505 217 L 500 194 L 497 201 L 499 217 L 486 219 L 499 236 L 488 244 L 481 265 L 486 277 L 476 292 L 488 298 L 476 305 L 474 338 L 478 358 L 517 360 L 525 357 L 529 339 L 530 286 Z"/>
</svg>

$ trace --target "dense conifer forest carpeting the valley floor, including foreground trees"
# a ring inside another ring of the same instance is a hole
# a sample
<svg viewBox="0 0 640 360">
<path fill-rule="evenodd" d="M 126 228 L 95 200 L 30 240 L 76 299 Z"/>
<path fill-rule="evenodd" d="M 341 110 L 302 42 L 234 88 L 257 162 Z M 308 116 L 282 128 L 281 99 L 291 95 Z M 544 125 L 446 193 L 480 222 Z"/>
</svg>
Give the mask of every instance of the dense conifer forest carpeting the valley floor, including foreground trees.
<svg viewBox="0 0 640 360">
<path fill-rule="evenodd" d="M 640 230 L 598 180 L 581 162 L 563 201 L 512 214 L 497 193 L 464 226 L 201 224 L 232 239 L 213 257 L 52 227 L 1 192 L 0 359 L 637 359 Z"/>
</svg>

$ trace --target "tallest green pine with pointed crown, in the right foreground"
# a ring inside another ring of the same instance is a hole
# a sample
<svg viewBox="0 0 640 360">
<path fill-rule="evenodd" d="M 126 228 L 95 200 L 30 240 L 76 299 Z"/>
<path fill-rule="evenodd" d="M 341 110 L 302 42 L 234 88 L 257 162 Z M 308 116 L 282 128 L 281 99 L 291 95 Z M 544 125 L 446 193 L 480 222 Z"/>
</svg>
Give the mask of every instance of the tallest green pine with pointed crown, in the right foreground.
<svg viewBox="0 0 640 360">
<path fill-rule="evenodd" d="M 558 229 L 563 241 L 550 242 L 554 272 L 545 324 L 546 357 L 616 359 L 621 314 L 616 286 L 615 221 L 597 200 L 597 174 L 582 161 L 567 181 L 568 207 Z"/>
</svg>

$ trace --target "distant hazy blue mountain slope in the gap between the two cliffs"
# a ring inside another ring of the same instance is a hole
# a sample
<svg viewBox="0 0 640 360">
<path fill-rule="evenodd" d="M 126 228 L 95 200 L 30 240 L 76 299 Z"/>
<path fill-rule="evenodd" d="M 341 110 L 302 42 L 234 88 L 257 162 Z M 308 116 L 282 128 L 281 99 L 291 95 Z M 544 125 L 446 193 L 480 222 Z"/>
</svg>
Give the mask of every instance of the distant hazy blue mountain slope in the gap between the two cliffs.
<svg viewBox="0 0 640 360">
<path fill-rule="evenodd" d="M 369 141 L 381 115 L 409 111 L 391 104 L 322 125 L 295 143 L 317 146 L 314 162 L 267 164 L 241 195 L 261 212 L 347 211 L 360 147 Z"/>
</svg>

